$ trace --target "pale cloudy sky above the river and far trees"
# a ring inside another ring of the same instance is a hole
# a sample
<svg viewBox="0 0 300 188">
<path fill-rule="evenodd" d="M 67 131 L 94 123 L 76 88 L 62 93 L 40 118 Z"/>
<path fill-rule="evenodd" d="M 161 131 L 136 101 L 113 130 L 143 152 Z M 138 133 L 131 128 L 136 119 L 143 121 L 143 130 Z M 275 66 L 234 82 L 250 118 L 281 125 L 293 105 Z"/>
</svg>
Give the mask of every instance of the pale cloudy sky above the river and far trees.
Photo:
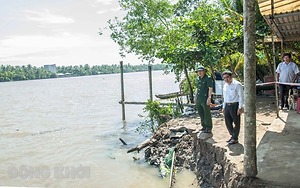
<svg viewBox="0 0 300 188">
<path fill-rule="evenodd" d="M 123 15 L 117 0 L 0 0 L 0 65 L 142 64 L 104 29 Z"/>
</svg>

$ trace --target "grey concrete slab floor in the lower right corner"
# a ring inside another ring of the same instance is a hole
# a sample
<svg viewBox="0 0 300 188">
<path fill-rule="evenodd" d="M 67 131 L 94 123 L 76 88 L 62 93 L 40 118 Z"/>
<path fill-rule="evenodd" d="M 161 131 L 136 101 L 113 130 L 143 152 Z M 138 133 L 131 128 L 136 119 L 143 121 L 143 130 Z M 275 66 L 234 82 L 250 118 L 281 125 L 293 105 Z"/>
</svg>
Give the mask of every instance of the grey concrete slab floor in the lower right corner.
<svg viewBox="0 0 300 188">
<path fill-rule="evenodd" d="M 300 114 L 280 111 L 257 147 L 260 180 L 300 187 Z"/>
</svg>

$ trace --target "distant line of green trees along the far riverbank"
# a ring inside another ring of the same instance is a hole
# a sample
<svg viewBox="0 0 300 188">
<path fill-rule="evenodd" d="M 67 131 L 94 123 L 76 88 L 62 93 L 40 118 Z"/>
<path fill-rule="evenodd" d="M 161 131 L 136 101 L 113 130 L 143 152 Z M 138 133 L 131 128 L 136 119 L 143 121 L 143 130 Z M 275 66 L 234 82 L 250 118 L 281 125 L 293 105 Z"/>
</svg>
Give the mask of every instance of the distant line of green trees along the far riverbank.
<svg viewBox="0 0 300 188">
<path fill-rule="evenodd" d="M 142 65 L 130 65 L 123 66 L 124 72 L 141 72 L 148 70 L 147 64 Z M 163 70 L 164 65 L 153 64 L 152 70 Z M 0 66 L 0 82 L 8 81 L 20 81 L 20 80 L 34 80 L 34 79 L 46 79 L 57 78 L 60 74 L 67 74 L 68 76 L 89 76 L 99 74 L 114 74 L 120 73 L 120 65 L 75 65 L 75 66 L 57 66 L 56 73 L 46 70 L 44 67 L 35 67 L 32 65 L 12 66 L 1 65 Z"/>
</svg>

